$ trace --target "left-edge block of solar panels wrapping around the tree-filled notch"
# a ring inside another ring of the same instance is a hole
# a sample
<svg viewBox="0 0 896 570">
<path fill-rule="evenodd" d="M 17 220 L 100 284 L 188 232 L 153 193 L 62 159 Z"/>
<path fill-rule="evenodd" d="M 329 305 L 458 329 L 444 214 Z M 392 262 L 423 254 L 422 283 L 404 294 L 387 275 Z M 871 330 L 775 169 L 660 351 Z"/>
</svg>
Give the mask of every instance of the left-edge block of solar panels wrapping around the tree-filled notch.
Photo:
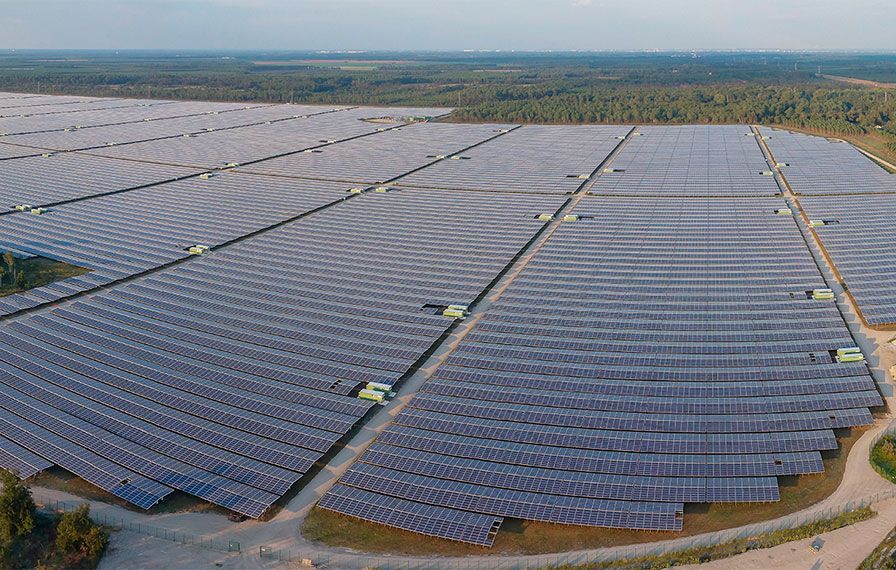
<svg viewBox="0 0 896 570">
<path fill-rule="evenodd" d="M 41 160 L 51 162 L 56 157 Z M 146 168 L 141 171 L 174 168 L 142 166 Z M 0 314 L 161 267 L 189 257 L 190 246 L 219 246 L 347 196 L 340 184 L 311 186 L 294 180 L 221 173 L 209 179 L 194 177 L 54 206 L 40 216 L 0 216 L 0 250 L 14 249 L 90 270 L 39 289 L 0 297 Z"/>
</svg>

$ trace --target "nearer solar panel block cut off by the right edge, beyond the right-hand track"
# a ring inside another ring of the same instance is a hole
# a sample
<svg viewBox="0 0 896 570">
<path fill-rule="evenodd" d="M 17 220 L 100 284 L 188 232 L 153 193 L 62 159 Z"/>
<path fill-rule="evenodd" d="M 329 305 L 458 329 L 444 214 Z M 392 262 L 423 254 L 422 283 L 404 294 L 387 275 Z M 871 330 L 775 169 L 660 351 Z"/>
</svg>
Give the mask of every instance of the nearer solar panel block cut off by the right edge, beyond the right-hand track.
<svg viewBox="0 0 896 570">
<path fill-rule="evenodd" d="M 806 197 L 800 204 L 813 231 L 872 326 L 896 323 L 896 194 Z"/>
</svg>

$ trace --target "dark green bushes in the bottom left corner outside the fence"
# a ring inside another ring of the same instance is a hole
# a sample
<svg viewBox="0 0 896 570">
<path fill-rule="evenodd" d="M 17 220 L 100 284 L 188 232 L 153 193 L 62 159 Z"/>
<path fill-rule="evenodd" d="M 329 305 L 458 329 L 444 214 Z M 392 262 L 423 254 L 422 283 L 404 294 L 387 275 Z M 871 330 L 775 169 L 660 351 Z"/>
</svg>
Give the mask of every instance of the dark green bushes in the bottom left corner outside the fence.
<svg viewBox="0 0 896 570">
<path fill-rule="evenodd" d="M 42 513 L 15 475 L 0 471 L 0 484 L 0 567 L 96 568 L 109 535 L 90 520 L 88 505 L 62 515 Z"/>
</svg>

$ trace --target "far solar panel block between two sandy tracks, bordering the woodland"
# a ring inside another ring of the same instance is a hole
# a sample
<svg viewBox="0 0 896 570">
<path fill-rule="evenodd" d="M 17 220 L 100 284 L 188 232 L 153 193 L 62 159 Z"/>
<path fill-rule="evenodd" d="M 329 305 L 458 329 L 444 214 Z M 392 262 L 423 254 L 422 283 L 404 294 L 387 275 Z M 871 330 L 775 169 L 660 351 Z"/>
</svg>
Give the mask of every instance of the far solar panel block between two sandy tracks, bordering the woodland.
<svg viewBox="0 0 896 570">
<path fill-rule="evenodd" d="M 749 126 L 641 127 L 591 192 L 773 196 L 780 191 Z"/>
</svg>

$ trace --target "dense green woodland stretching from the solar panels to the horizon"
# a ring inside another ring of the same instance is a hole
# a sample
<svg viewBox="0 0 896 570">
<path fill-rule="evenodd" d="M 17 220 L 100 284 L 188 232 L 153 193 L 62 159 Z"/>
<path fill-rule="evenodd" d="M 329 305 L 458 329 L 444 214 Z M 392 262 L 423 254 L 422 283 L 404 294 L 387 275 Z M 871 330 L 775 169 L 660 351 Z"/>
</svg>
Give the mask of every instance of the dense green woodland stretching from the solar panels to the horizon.
<svg viewBox="0 0 896 570">
<path fill-rule="evenodd" d="M 451 120 L 765 123 L 890 137 L 893 54 L 0 52 L 0 90 L 456 107 Z"/>
</svg>

